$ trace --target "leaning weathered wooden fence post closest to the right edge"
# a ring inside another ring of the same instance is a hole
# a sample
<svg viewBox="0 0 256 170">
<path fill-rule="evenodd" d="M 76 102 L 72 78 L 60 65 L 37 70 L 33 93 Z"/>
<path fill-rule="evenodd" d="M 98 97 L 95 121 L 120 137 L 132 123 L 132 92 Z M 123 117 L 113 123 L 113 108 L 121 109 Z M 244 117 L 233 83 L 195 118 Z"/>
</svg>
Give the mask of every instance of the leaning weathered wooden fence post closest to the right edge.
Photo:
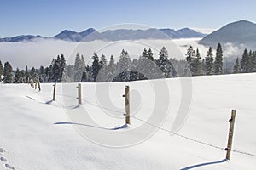
<svg viewBox="0 0 256 170">
<path fill-rule="evenodd" d="M 227 160 L 230 160 L 230 154 L 231 154 L 231 148 L 232 148 L 232 139 L 233 139 L 233 133 L 234 133 L 235 117 L 236 117 L 236 110 L 232 110 L 231 119 L 229 120 L 229 122 L 230 122 L 230 131 L 229 131 L 228 146 L 225 149 L 227 151 L 227 154 L 226 154 L 226 159 Z"/>
</svg>

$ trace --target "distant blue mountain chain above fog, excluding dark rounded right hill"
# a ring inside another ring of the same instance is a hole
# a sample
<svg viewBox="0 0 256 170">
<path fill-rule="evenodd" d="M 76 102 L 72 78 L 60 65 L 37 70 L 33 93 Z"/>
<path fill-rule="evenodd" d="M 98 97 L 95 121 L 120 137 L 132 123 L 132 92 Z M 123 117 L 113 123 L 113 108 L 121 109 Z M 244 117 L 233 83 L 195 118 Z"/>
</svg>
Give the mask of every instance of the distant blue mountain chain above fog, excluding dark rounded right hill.
<svg viewBox="0 0 256 170">
<path fill-rule="evenodd" d="M 103 41 L 119 41 L 119 40 L 138 40 L 138 39 L 176 39 L 176 38 L 189 38 L 189 37 L 205 37 L 206 34 L 183 28 L 180 30 L 173 29 L 148 29 L 148 30 L 131 30 L 131 29 L 118 29 L 98 32 L 93 28 L 85 31 L 76 32 L 64 30 L 54 37 L 42 37 L 32 35 L 22 35 L 17 37 L 4 37 L 0 38 L 0 42 L 27 42 L 38 38 L 41 39 L 56 39 L 69 42 L 90 42 L 94 40 Z"/>
</svg>

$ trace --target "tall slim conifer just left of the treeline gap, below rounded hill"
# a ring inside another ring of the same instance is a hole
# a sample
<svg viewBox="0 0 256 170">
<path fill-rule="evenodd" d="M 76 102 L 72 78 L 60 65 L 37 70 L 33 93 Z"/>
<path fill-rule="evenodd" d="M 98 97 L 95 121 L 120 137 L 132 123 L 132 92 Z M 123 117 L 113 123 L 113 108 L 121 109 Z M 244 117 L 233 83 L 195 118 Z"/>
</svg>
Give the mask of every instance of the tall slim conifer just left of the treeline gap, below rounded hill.
<svg viewBox="0 0 256 170">
<path fill-rule="evenodd" d="M 216 50 L 216 57 L 214 61 L 214 74 L 221 75 L 223 74 L 223 52 L 221 48 L 221 44 L 218 43 Z"/>
</svg>

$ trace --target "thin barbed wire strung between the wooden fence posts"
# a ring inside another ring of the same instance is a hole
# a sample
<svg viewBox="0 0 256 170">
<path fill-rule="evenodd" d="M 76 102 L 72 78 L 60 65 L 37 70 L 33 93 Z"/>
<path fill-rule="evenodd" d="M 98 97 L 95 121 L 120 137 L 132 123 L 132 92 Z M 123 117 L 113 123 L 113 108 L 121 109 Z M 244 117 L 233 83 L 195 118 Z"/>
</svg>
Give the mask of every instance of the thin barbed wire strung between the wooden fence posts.
<svg viewBox="0 0 256 170">
<path fill-rule="evenodd" d="M 63 96 L 63 97 L 67 97 L 67 98 L 77 99 L 76 97 L 73 97 L 73 96 L 67 96 L 67 95 L 63 95 L 63 94 L 62 94 L 62 95 L 61 95 L 61 94 L 57 94 L 57 95 Z M 92 103 L 92 102 L 90 102 L 88 99 L 82 99 L 82 100 L 83 100 L 84 102 L 90 104 L 90 105 L 94 105 L 94 106 L 96 106 L 96 107 L 99 107 L 99 108 L 101 108 L 102 110 L 113 111 L 113 112 L 121 113 L 122 115 L 125 114 L 124 111 L 115 111 L 115 110 L 110 109 L 110 108 L 107 108 L 107 107 L 102 107 L 102 105 L 97 105 L 97 104 L 95 104 L 95 103 Z M 165 128 L 163 128 L 163 127 L 156 126 L 156 125 L 154 125 L 153 123 L 150 123 L 150 122 L 144 121 L 143 119 L 138 118 L 137 116 L 132 116 L 132 115 L 131 115 L 131 117 L 133 117 L 133 118 L 136 119 L 137 121 L 146 123 L 146 124 L 148 124 L 148 125 L 150 125 L 150 126 L 152 126 L 152 127 L 155 127 L 155 128 L 157 128 L 157 129 L 160 129 L 160 130 L 162 130 L 162 131 L 164 131 L 164 132 L 166 132 L 166 133 L 171 133 L 171 134 L 173 134 L 173 135 L 177 135 L 177 136 L 180 137 L 180 138 L 188 139 L 188 140 L 193 141 L 193 142 L 198 143 L 198 144 L 204 144 L 204 145 L 206 145 L 206 146 L 209 146 L 209 147 L 212 147 L 212 148 L 215 148 L 215 149 L 218 149 L 218 150 L 226 150 L 226 148 L 221 147 L 221 146 L 218 146 L 218 145 L 215 145 L 215 144 L 208 144 L 207 142 L 203 142 L 203 141 L 198 140 L 198 139 L 192 139 L 192 138 L 187 137 L 187 136 L 185 136 L 185 135 L 183 135 L 183 134 L 173 133 L 171 130 L 165 129 Z M 254 156 L 254 157 L 256 157 L 256 154 L 248 153 L 248 152 L 246 152 L 246 151 L 241 151 L 241 150 L 231 150 L 231 151 L 232 151 L 232 152 L 239 153 L 239 154 L 247 155 L 247 156 Z"/>
</svg>

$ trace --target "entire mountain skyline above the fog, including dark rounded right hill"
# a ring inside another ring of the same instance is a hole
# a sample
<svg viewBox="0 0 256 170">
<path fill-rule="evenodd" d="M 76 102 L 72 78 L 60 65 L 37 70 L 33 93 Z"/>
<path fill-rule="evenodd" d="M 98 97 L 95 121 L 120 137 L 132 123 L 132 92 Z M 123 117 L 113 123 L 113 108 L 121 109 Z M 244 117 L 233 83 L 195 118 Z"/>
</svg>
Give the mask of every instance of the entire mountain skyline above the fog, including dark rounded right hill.
<svg viewBox="0 0 256 170">
<path fill-rule="evenodd" d="M 240 48 L 256 48 L 256 24 L 247 20 L 239 20 L 227 24 L 217 31 L 206 35 L 189 28 L 180 30 L 156 29 L 132 30 L 118 29 L 99 32 L 93 28 L 85 31 L 76 32 L 64 30 L 54 37 L 42 37 L 32 35 L 22 35 L 17 37 L 0 38 L 0 42 L 29 42 L 36 39 L 55 39 L 68 42 L 90 42 L 94 40 L 119 41 L 119 40 L 138 40 L 138 39 L 177 39 L 201 37 L 200 44 L 205 46 L 217 47 L 218 43 L 231 43 Z"/>
</svg>

